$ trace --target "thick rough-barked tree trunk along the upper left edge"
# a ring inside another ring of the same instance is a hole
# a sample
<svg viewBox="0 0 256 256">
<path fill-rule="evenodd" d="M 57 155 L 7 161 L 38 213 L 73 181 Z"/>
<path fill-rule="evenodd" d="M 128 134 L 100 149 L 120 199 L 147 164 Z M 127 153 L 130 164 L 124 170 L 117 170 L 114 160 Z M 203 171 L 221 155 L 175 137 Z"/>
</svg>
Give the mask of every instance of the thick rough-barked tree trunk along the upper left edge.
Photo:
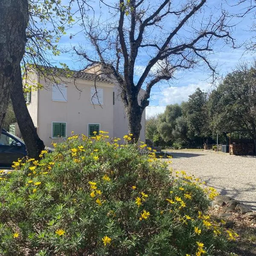
<svg viewBox="0 0 256 256">
<path fill-rule="evenodd" d="M 0 128 L 3 127 L 15 70 L 24 54 L 28 21 L 27 0 L 0 0 Z"/>
</svg>

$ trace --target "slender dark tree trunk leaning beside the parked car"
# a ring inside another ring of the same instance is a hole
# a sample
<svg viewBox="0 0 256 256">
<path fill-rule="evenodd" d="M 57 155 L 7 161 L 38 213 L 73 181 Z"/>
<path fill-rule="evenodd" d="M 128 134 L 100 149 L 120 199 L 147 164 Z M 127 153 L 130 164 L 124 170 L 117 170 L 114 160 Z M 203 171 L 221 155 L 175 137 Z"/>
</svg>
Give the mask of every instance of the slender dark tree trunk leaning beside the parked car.
<svg viewBox="0 0 256 256">
<path fill-rule="evenodd" d="M 13 84 L 13 91 L 15 92 L 11 94 L 13 111 L 15 113 L 22 138 L 26 144 L 28 156 L 30 158 L 38 159 L 39 154 L 44 150 L 45 146 L 44 142 L 38 137 L 36 128 L 26 106 L 20 66 L 18 67 L 15 83 Z"/>
</svg>

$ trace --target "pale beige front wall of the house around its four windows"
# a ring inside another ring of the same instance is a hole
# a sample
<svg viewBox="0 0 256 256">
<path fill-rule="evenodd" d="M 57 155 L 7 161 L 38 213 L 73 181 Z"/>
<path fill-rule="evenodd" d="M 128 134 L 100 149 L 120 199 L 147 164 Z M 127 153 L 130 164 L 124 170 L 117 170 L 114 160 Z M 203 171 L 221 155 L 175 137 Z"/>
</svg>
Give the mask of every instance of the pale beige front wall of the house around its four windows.
<svg viewBox="0 0 256 256">
<path fill-rule="evenodd" d="M 67 122 L 67 136 L 71 131 L 88 135 L 88 124 L 96 123 L 113 137 L 113 84 L 97 82 L 97 87 L 103 88 L 103 104 L 93 106 L 90 93 L 93 81 L 77 79 L 75 86 L 74 80 L 63 80 L 62 84 L 67 85 L 67 102 L 52 101 L 51 83 L 40 81 L 48 88 L 38 94 L 38 135 L 44 144 L 50 147 L 52 142 L 63 140 L 52 138 L 52 122 Z"/>
</svg>

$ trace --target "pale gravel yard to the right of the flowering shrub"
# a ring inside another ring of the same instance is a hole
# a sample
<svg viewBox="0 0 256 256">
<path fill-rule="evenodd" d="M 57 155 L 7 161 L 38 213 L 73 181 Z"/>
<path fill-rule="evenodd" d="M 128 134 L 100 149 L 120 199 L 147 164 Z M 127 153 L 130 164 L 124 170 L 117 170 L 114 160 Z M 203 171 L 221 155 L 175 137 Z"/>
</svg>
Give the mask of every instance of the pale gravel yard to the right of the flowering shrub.
<svg viewBox="0 0 256 256">
<path fill-rule="evenodd" d="M 210 150 L 169 151 L 172 168 L 199 177 L 221 193 L 256 210 L 256 157 Z M 169 160 L 169 159 L 168 159 Z"/>
</svg>

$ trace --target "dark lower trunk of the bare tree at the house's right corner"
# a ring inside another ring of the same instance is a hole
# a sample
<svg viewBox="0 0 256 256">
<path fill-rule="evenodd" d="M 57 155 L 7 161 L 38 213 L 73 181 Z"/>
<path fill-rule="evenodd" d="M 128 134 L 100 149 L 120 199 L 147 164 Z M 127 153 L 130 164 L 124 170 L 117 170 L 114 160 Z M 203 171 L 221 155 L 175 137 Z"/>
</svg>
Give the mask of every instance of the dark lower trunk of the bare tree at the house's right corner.
<svg viewBox="0 0 256 256">
<path fill-rule="evenodd" d="M 126 109 L 127 117 L 128 117 L 128 132 L 133 134 L 132 138 L 134 139 L 132 142 L 137 143 L 140 138 L 140 130 L 141 126 L 141 118 L 143 111 L 140 108 L 138 102 L 132 103 Z"/>
</svg>

